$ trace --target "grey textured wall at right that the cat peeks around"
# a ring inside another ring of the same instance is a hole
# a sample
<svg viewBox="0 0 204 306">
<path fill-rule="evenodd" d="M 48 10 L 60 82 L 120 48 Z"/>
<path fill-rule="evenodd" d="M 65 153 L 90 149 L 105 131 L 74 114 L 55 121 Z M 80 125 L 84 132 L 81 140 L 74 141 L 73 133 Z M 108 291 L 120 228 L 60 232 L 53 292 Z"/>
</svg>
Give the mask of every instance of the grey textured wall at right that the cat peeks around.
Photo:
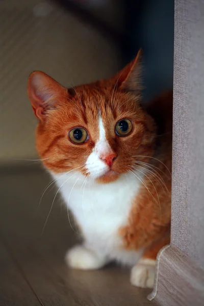
<svg viewBox="0 0 204 306">
<path fill-rule="evenodd" d="M 171 243 L 204 269 L 204 2 L 175 2 Z"/>
</svg>

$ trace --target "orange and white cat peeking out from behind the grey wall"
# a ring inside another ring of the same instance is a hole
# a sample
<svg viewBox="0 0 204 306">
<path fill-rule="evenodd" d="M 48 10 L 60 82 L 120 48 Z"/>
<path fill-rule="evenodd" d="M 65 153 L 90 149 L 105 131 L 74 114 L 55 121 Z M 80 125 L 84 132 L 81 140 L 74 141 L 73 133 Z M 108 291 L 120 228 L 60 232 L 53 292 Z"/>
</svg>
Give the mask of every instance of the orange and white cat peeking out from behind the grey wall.
<svg viewBox="0 0 204 306">
<path fill-rule="evenodd" d="M 170 242 L 172 92 L 142 104 L 142 51 L 114 77 L 65 88 L 41 71 L 28 80 L 36 147 L 72 212 L 83 243 L 69 267 L 130 266 L 152 288 Z"/>
</svg>

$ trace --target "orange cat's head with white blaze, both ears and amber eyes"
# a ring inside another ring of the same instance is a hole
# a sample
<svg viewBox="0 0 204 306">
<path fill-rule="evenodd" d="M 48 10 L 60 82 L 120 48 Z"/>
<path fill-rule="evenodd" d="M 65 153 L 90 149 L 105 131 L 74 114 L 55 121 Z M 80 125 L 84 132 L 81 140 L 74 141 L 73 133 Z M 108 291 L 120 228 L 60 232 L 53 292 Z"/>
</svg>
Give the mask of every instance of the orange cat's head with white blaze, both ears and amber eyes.
<svg viewBox="0 0 204 306">
<path fill-rule="evenodd" d="M 31 73 L 28 95 L 39 119 L 36 145 L 48 170 L 79 171 L 107 183 L 152 154 L 156 128 L 140 106 L 140 71 L 141 51 L 113 78 L 75 88 L 62 87 L 43 72 Z"/>
</svg>

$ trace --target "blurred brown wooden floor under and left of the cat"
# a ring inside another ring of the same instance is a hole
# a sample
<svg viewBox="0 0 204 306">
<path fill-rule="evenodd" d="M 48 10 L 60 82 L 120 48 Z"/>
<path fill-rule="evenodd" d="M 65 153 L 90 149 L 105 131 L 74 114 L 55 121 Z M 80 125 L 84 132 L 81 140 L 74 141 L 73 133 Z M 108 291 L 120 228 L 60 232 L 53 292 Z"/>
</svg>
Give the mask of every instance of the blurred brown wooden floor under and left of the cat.
<svg viewBox="0 0 204 306">
<path fill-rule="evenodd" d="M 127 269 L 66 267 L 65 252 L 77 239 L 59 197 L 43 230 L 56 188 L 39 201 L 50 181 L 39 168 L 1 170 L 0 305 L 152 305 L 149 290 L 131 286 Z"/>
</svg>

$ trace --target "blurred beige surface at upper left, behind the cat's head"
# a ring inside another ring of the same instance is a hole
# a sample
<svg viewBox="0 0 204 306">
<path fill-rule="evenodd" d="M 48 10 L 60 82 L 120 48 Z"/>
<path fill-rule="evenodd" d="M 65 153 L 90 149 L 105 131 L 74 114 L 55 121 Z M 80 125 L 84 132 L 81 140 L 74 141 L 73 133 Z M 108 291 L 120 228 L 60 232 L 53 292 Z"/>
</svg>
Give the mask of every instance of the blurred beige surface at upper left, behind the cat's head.
<svg viewBox="0 0 204 306">
<path fill-rule="evenodd" d="M 109 77 L 119 63 L 112 42 L 53 3 L 0 2 L 0 164 L 36 158 L 36 119 L 27 97 L 33 70 L 69 87 Z"/>
</svg>

